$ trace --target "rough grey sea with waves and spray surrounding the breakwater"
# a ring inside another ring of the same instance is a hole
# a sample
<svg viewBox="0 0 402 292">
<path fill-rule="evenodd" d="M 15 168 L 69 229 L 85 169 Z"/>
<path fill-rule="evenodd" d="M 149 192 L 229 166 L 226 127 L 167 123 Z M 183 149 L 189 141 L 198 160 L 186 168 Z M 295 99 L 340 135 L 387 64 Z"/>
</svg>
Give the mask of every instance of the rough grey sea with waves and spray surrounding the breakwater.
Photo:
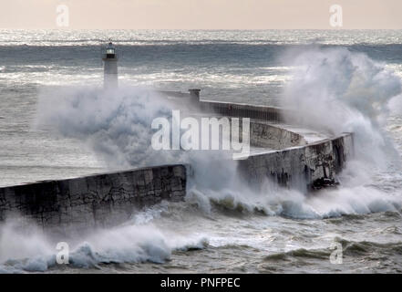
<svg viewBox="0 0 402 292">
<path fill-rule="evenodd" d="M 120 88 L 101 94 L 108 39 Z M 185 157 L 211 165 L 186 201 L 115 228 L 64 239 L 2 224 L 0 272 L 400 273 L 401 78 L 402 30 L 0 30 L 0 186 L 177 161 L 149 154 L 149 120 L 169 108 L 153 89 L 294 108 L 306 127 L 356 132 L 357 148 L 341 186 L 315 195 L 256 192 L 235 162 Z M 70 265 L 56 265 L 65 240 Z"/>
</svg>

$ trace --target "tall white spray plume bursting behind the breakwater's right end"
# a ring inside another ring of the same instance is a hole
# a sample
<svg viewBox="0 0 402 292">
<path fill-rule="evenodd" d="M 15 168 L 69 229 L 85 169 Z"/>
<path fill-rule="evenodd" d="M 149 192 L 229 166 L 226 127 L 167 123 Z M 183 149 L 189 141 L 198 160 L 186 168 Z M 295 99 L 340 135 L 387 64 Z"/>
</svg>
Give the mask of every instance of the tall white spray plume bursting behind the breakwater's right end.
<svg viewBox="0 0 402 292">
<path fill-rule="evenodd" d="M 400 78 L 346 48 L 291 50 L 283 59 L 294 66 L 281 99 L 287 120 L 330 134 L 353 132 L 358 158 L 378 167 L 395 160 L 383 126 L 388 101 L 401 93 Z"/>
</svg>

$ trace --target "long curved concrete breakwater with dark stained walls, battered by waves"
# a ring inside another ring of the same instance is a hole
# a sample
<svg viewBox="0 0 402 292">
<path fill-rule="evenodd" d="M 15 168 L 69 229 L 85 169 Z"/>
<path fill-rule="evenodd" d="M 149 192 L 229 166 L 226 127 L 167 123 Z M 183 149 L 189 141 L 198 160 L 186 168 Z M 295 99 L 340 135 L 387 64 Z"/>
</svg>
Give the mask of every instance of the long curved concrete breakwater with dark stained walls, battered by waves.
<svg viewBox="0 0 402 292">
<path fill-rule="evenodd" d="M 251 154 L 238 162 L 249 185 L 266 180 L 300 191 L 335 183 L 336 175 L 353 155 L 353 135 L 317 135 L 281 124 L 283 110 L 224 102 L 201 101 L 200 90 L 190 94 L 161 92 L 188 105 L 190 113 L 217 118 L 251 118 Z M 222 163 L 225 163 L 222 160 Z M 186 195 L 191 165 L 172 164 L 108 172 L 66 180 L 43 181 L 0 188 L 0 221 L 15 216 L 23 224 L 44 228 L 88 229 L 123 223 L 144 206 L 162 200 L 181 201 Z M 194 171 L 194 172 L 193 172 Z"/>
</svg>

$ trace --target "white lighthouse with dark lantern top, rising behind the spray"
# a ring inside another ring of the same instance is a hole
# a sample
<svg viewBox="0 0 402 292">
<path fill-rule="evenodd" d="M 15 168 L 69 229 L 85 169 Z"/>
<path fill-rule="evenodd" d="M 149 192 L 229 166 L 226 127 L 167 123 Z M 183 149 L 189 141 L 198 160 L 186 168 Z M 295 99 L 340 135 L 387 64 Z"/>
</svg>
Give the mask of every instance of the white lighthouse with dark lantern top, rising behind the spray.
<svg viewBox="0 0 402 292">
<path fill-rule="evenodd" d="M 104 69 L 103 84 L 105 89 L 116 89 L 118 87 L 118 54 L 116 47 L 112 42 L 108 43 L 108 46 L 103 49 L 102 60 Z"/>
</svg>

